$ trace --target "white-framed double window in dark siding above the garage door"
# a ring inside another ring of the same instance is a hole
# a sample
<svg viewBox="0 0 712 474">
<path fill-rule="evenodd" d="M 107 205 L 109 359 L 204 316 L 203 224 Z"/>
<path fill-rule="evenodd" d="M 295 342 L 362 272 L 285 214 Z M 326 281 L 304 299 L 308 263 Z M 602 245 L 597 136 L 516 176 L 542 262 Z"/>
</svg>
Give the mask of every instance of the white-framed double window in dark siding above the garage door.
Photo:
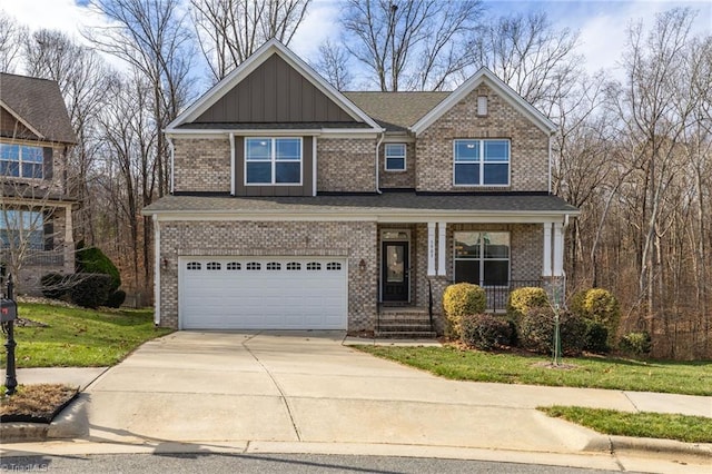
<svg viewBox="0 0 712 474">
<path fill-rule="evenodd" d="M 301 138 L 246 138 L 247 185 L 300 185 Z"/>
</svg>

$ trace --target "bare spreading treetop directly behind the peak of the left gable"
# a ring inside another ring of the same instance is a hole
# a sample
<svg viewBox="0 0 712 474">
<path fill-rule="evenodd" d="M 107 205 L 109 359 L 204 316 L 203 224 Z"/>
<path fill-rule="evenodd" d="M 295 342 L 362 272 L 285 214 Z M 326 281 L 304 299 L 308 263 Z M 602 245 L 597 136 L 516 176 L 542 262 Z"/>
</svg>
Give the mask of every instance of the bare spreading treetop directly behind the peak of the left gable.
<svg viewBox="0 0 712 474">
<path fill-rule="evenodd" d="M 266 41 L 291 41 L 312 0 L 190 0 L 215 82 Z"/>
</svg>

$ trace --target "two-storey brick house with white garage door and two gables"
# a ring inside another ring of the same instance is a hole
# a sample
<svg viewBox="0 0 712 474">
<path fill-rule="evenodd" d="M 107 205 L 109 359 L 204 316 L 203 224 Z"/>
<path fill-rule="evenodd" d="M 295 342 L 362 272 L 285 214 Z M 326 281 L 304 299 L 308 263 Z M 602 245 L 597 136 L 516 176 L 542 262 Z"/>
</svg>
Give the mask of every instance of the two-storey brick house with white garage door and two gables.
<svg viewBox="0 0 712 474">
<path fill-rule="evenodd" d="M 442 330 L 442 294 L 563 280 L 577 209 L 551 194 L 556 127 L 491 71 L 453 92 L 345 92 L 269 41 L 166 129 L 156 324 Z M 432 309 L 431 309 L 432 308 Z"/>
</svg>

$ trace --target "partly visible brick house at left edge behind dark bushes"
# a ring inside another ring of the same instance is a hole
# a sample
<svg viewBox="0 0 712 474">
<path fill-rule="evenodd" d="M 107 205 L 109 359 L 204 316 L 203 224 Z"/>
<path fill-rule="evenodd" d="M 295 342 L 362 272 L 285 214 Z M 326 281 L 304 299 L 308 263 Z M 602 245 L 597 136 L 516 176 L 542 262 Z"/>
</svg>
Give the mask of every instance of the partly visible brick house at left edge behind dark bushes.
<svg viewBox="0 0 712 474">
<path fill-rule="evenodd" d="M 77 137 L 56 81 L 0 73 L 0 267 L 39 290 L 49 271 L 75 271 L 67 160 Z"/>
</svg>

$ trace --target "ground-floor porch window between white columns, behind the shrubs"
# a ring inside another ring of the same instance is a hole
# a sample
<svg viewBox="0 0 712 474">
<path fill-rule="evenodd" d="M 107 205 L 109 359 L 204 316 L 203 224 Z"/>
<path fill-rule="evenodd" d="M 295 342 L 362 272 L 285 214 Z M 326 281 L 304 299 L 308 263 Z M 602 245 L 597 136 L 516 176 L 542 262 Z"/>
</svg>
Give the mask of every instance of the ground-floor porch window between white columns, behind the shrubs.
<svg viewBox="0 0 712 474">
<path fill-rule="evenodd" d="M 510 284 L 508 233 L 455 233 L 455 283 Z"/>
</svg>

